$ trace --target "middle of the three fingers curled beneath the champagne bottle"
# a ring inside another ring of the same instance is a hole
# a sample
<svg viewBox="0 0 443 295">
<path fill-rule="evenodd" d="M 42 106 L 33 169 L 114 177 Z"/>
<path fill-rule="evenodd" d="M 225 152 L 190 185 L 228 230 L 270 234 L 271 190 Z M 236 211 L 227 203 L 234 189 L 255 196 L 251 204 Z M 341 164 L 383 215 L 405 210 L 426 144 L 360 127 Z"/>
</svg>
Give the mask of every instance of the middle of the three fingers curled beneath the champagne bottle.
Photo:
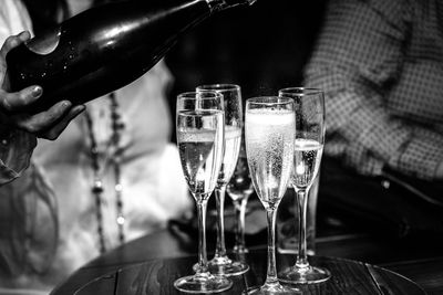
<svg viewBox="0 0 443 295">
<path fill-rule="evenodd" d="M 17 125 L 31 133 L 39 134 L 52 128 L 69 112 L 72 104 L 69 101 L 62 101 L 53 105 L 47 112 L 37 115 L 18 115 L 16 116 Z"/>
</svg>

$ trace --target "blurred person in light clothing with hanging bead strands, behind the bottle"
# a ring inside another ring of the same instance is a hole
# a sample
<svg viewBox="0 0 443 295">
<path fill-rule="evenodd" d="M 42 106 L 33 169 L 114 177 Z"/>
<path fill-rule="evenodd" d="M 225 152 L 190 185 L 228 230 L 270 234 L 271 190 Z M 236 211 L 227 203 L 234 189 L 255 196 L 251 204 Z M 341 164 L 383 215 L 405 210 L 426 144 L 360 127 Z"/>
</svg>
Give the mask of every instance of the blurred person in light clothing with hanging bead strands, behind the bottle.
<svg viewBox="0 0 443 295">
<path fill-rule="evenodd" d="M 29 38 L 21 32 L 39 33 L 102 2 L 0 6 L 0 293 L 48 293 L 93 257 L 193 208 L 169 143 L 172 76 L 163 62 L 85 110 L 61 102 L 29 116 L 20 105 L 41 89 L 9 92 L 4 57 Z"/>
</svg>

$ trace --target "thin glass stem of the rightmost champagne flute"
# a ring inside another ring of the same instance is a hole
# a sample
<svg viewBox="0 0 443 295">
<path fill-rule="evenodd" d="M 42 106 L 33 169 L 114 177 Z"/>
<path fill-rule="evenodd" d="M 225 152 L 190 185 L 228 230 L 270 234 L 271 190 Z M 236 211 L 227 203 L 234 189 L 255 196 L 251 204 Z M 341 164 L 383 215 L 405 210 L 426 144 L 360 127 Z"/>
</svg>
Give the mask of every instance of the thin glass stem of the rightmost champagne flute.
<svg viewBox="0 0 443 295">
<path fill-rule="evenodd" d="M 297 268 L 307 268 L 309 267 L 308 256 L 306 252 L 306 212 L 308 204 L 307 191 L 306 190 L 297 190 L 297 204 L 298 204 L 298 255 L 296 267 Z"/>
</svg>

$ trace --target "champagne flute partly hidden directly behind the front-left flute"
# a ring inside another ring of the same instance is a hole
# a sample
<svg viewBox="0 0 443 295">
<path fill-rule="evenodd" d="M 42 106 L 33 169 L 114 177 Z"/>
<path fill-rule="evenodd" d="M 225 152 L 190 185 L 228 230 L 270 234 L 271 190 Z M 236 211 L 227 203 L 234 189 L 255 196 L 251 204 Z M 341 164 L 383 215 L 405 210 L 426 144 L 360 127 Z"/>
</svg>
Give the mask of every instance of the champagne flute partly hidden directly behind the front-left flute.
<svg viewBox="0 0 443 295">
<path fill-rule="evenodd" d="M 241 261 L 233 261 L 225 245 L 225 194 L 226 186 L 234 173 L 241 143 L 243 109 L 240 86 L 235 84 L 200 85 L 197 92 L 215 91 L 223 95 L 225 110 L 225 141 L 222 168 L 215 188 L 217 208 L 217 243 L 214 259 L 208 262 L 209 272 L 223 275 L 246 273 L 249 266 Z"/>
</svg>

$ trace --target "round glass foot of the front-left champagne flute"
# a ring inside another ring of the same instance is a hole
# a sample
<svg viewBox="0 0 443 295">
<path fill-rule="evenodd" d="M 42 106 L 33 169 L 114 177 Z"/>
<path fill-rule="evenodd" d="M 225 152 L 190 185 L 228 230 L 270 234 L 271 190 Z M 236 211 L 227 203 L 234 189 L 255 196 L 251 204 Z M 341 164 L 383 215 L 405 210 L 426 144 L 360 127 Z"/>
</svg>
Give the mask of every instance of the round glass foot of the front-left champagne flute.
<svg viewBox="0 0 443 295">
<path fill-rule="evenodd" d="M 210 294 L 224 292 L 233 286 L 233 282 L 226 277 L 200 273 L 181 277 L 174 282 L 174 287 L 184 293 Z"/>
</svg>

